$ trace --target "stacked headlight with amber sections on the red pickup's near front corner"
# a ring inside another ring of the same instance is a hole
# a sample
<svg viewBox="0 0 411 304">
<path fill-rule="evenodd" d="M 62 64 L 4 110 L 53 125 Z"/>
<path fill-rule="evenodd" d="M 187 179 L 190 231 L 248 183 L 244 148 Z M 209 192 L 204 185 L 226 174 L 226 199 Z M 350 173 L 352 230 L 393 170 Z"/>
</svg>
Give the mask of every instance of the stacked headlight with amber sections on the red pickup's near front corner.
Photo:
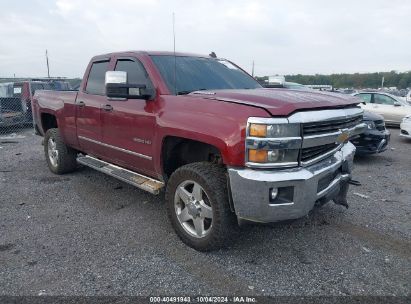
<svg viewBox="0 0 411 304">
<path fill-rule="evenodd" d="M 264 120 L 249 121 L 246 139 L 247 165 L 264 168 L 298 165 L 301 148 L 300 124 L 280 121 L 278 124 L 266 123 Z"/>
</svg>

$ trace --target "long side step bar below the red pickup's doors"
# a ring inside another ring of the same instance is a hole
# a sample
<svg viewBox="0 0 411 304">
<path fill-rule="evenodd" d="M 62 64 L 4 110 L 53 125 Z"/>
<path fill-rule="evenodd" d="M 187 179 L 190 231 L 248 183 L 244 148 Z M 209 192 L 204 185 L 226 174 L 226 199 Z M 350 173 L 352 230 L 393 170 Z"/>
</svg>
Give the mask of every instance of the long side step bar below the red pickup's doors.
<svg viewBox="0 0 411 304">
<path fill-rule="evenodd" d="M 107 175 L 115 177 L 123 182 L 133 185 L 152 194 L 159 194 L 164 183 L 151 177 L 121 168 L 89 155 L 77 157 L 77 162 Z"/>
</svg>

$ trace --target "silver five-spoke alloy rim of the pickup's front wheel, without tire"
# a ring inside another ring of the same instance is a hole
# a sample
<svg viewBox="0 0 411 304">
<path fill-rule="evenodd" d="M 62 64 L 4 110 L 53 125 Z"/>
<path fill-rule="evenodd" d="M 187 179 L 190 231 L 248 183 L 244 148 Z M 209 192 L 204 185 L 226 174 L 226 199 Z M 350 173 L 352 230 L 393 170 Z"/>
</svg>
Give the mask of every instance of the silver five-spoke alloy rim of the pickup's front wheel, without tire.
<svg viewBox="0 0 411 304">
<path fill-rule="evenodd" d="M 174 194 L 174 209 L 184 230 L 195 238 L 207 236 L 213 226 L 213 209 L 207 193 L 195 181 L 186 180 Z"/>
</svg>

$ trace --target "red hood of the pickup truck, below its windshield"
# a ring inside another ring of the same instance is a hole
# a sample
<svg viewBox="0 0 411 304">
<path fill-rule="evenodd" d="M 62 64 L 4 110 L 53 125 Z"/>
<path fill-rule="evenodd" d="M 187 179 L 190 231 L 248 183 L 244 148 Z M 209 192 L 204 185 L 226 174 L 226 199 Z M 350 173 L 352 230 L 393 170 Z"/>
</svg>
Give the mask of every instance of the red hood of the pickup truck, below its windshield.
<svg viewBox="0 0 411 304">
<path fill-rule="evenodd" d="M 246 89 L 195 91 L 189 96 L 264 108 L 273 116 L 288 116 L 299 110 L 343 108 L 361 102 L 344 94 L 290 89 Z"/>
</svg>

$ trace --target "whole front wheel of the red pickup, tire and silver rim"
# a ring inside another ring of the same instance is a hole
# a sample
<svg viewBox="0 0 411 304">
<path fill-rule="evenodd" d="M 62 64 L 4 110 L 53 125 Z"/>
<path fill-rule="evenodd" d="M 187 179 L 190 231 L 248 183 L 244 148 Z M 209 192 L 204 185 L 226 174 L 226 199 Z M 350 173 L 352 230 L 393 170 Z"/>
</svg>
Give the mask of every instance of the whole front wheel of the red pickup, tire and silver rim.
<svg viewBox="0 0 411 304">
<path fill-rule="evenodd" d="M 168 181 L 166 203 L 177 235 L 196 250 L 217 249 L 233 232 L 235 217 L 221 166 L 203 162 L 177 169 Z"/>
</svg>

